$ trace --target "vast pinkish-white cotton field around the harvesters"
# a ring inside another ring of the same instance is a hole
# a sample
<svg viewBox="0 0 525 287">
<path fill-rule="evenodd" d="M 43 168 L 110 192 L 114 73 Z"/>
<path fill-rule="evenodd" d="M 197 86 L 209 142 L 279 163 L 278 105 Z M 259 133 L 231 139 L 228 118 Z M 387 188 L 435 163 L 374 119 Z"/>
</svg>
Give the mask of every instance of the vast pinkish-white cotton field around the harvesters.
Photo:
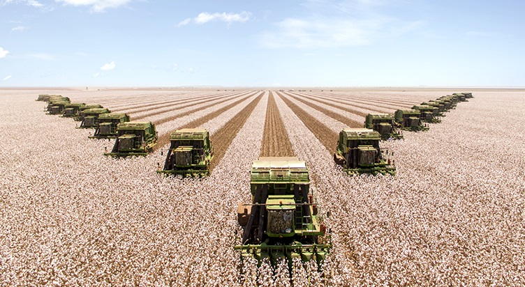
<svg viewBox="0 0 525 287">
<path fill-rule="evenodd" d="M 308 114 L 333 134 L 347 124 L 323 109 L 363 122 L 363 113 L 454 92 L 0 90 L 0 285 L 524 286 L 524 91 L 472 90 L 428 132 L 383 141 L 396 176 L 346 175 L 335 146 L 302 120 Z M 200 121 L 226 146 L 208 178 L 165 178 L 156 169 L 166 143 L 147 157 L 105 157 L 114 140 L 89 139 L 93 130 L 45 114 L 40 93 L 160 123 L 159 138 Z M 263 144 L 275 106 L 285 130 L 275 134 L 286 133 L 283 146 L 306 161 L 321 212 L 330 212 L 333 248 L 321 270 L 241 265 L 233 249 L 251 162 L 281 144 Z M 242 127 L 231 129 L 243 112 Z"/>
</svg>

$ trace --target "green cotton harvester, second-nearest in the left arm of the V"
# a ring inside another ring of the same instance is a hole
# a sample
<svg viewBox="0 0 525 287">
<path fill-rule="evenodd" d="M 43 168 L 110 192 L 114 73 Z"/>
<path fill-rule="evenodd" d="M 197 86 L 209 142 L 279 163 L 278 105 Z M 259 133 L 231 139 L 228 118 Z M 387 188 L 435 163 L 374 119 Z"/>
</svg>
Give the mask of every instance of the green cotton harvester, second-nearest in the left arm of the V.
<svg viewBox="0 0 525 287">
<path fill-rule="evenodd" d="M 117 125 L 117 140 L 111 153 L 113 157 L 147 155 L 157 143 L 155 125 L 151 122 L 126 122 Z"/>
</svg>

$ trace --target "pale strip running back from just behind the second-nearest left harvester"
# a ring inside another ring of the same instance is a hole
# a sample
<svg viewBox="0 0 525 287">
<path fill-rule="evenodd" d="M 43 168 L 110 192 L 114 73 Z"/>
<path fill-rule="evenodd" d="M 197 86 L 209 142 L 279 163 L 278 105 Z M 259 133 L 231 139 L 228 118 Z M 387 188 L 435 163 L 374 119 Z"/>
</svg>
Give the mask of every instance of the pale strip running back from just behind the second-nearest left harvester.
<svg viewBox="0 0 525 287">
<path fill-rule="evenodd" d="M 135 118 L 135 121 L 138 121 L 138 120 L 144 121 L 146 119 L 147 121 L 154 121 L 157 125 L 161 125 L 162 123 L 166 123 L 168 121 L 172 121 L 175 118 L 179 118 L 181 117 L 181 115 L 184 116 L 186 114 L 191 114 L 194 111 L 198 111 L 200 109 L 206 109 L 207 107 L 212 107 L 216 104 L 221 104 L 223 102 L 227 102 L 229 100 L 239 98 L 242 95 L 245 95 L 245 94 L 233 95 L 233 96 L 227 95 L 226 96 L 227 98 L 225 99 L 221 97 L 219 99 L 215 99 L 211 101 L 210 100 L 195 101 L 189 104 L 183 104 L 182 106 L 179 106 L 177 104 L 177 105 L 172 105 L 171 107 L 167 107 L 164 109 L 157 109 L 154 111 L 142 111 L 138 114 L 131 113 L 131 115 L 133 115 L 133 118 Z M 175 113 L 169 113 L 170 111 L 175 111 Z M 167 115 L 170 115 L 170 116 L 167 116 Z M 162 117 L 158 117 L 158 116 L 162 116 Z M 154 120 L 151 119 L 153 117 L 155 118 Z"/>
</svg>

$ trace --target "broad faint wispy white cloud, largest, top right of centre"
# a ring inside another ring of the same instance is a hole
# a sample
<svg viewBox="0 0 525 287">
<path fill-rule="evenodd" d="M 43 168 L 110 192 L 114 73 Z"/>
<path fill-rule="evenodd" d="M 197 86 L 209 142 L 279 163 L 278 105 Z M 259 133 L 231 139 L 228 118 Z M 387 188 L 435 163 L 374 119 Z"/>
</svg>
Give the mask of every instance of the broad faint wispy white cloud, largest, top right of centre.
<svg viewBox="0 0 525 287">
<path fill-rule="evenodd" d="M 376 10 L 388 4 L 385 0 L 309 0 L 302 3 L 309 15 L 287 17 L 274 23 L 274 29 L 260 34 L 260 44 L 272 48 L 370 45 L 378 39 L 413 31 L 421 24 L 399 20 Z"/>
</svg>

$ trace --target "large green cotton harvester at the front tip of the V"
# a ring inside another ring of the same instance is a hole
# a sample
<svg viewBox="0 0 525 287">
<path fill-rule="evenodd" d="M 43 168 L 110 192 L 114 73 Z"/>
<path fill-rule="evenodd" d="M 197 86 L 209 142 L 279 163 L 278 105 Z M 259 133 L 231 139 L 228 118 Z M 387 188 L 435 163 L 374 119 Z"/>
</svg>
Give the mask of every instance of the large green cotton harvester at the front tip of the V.
<svg viewBox="0 0 525 287">
<path fill-rule="evenodd" d="M 251 168 L 251 204 L 239 203 L 244 233 L 241 259 L 265 258 L 276 265 L 287 258 L 323 264 L 330 251 L 326 227 L 309 190 L 306 162 L 297 157 L 260 157 Z"/>
</svg>

